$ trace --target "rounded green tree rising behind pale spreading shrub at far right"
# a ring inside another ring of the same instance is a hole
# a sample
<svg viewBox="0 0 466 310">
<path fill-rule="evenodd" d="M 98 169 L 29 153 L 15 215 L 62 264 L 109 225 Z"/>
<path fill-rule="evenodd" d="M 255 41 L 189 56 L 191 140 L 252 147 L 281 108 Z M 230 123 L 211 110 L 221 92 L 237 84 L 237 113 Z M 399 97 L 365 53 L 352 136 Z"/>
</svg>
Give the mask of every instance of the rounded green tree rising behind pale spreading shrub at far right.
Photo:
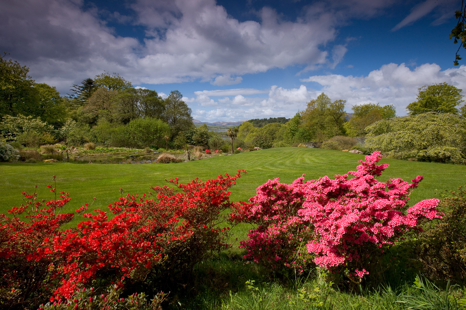
<svg viewBox="0 0 466 310">
<path fill-rule="evenodd" d="M 458 114 L 456 106 L 464 102 L 462 89 L 447 83 L 439 83 L 418 88 L 418 101 L 410 103 L 406 109 L 408 114 L 416 115 L 425 112 Z"/>
</svg>

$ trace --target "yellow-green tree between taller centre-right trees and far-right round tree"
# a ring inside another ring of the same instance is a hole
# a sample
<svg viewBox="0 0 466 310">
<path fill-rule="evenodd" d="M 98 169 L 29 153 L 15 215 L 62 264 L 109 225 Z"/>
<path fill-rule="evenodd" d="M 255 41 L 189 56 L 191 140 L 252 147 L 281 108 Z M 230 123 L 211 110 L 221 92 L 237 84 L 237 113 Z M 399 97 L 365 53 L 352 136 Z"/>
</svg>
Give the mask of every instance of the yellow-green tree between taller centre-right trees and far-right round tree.
<svg viewBox="0 0 466 310">
<path fill-rule="evenodd" d="M 378 103 L 366 103 L 354 105 L 353 117 L 346 122 L 343 127 L 349 137 L 363 136 L 367 132 L 365 128 L 381 119 L 391 119 L 396 116 L 393 105 L 380 106 Z"/>
</svg>

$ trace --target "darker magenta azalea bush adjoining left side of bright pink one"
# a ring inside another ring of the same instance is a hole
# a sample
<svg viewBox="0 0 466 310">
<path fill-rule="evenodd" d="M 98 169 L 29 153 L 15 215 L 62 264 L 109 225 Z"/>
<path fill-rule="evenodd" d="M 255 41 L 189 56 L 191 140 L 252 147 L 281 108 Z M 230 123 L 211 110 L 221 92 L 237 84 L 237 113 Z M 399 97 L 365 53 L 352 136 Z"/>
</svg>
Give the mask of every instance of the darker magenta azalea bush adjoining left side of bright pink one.
<svg viewBox="0 0 466 310">
<path fill-rule="evenodd" d="M 298 257 L 306 253 L 297 249 L 306 249 L 308 231 L 298 216 L 305 199 L 303 180 L 298 178 L 290 185 L 280 183 L 278 178 L 268 180 L 257 188 L 250 203 L 238 204 L 241 209 L 232 218 L 257 225 L 249 231 L 249 240 L 240 242 L 240 248 L 248 251 L 244 258 L 272 268 L 292 264 L 302 270 L 306 259 L 298 261 Z"/>
</svg>

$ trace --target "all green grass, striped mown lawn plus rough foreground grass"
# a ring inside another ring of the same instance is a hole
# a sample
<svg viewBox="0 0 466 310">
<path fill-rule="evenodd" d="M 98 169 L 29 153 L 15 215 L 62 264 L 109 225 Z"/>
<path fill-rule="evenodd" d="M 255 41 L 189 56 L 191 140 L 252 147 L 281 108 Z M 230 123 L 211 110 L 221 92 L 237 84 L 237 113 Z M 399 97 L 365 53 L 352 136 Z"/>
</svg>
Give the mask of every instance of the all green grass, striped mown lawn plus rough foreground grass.
<svg viewBox="0 0 466 310">
<path fill-rule="evenodd" d="M 245 169 L 248 172 L 231 189 L 231 199 L 247 200 L 255 194 L 256 187 L 269 178 L 280 177 L 282 182 L 291 183 L 303 173 L 306 174 L 306 179 L 343 174 L 356 170 L 357 161 L 363 158 L 363 155 L 347 152 L 288 147 L 178 164 L 2 163 L 0 164 L 2 173 L 0 213 L 21 204 L 21 191 L 33 191 L 35 184 L 39 185 L 37 191 L 40 198 L 53 198 L 46 187 L 51 183 L 52 175 L 57 176 L 57 190 L 70 193 L 72 200 L 68 211 L 72 211 L 86 202 L 91 202 L 92 197 L 97 197 L 93 208 L 106 209 L 109 203 L 118 198 L 120 187 L 125 193 L 143 193 L 149 191 L 149 186 L 165 185 L 165 178 L 178 177 L 180 182 L 186 183 L 195 177 L 206 180 L 225 172 L 232 175 L 238 169 Z M 388 163 L 390 167 L 379 177 L 380 181 L 388 178 L 403 178 L 410 181 L 417 175 L 424 176 L 425 179 L 420 183 L 419 188 L 411 195 L 411 205 L 425 198 L 436 197 L 436 189 L 454 190 L 464 185 L 466 179 L 466 166 L 462 165 L 409 162 L 388 158 L 383 158 L 381 163 Z M 245 225 L 237 226 L 234 237 L 244 239 L 247 228 Z M 192 293 L 179 296 L 178 300 L 182 308 L 314 309 L 308 302 L 299 298 L 297 290 L 312 289 L 317 281 L 315 277 L 302 282 L 286 283 L 277 280 L 273 272 L 264 270 L 258 264 L 242 261 L 240 254 L 241 251 L 237 248 L 231 249 L 199 264 L 196 270 L 198 280 L 192 287 Z M 393 276 L 400 277 L 401 274 Z M 246 284 L 248 280 L 255 280 L 254 285 L 258 290 L 248 289 Z M 400 293 L 417 294 L 411 291 L 411 285 L 398 285 L 396 291 L 380 289 L 362 294 L 342 292 L 335 288 L 326 297 L 325 305 L 319 309 L 402 309 L 401 304 L 395 301 Z M 178 308 L 178 305 L 173 308 Z"/>
</svg>

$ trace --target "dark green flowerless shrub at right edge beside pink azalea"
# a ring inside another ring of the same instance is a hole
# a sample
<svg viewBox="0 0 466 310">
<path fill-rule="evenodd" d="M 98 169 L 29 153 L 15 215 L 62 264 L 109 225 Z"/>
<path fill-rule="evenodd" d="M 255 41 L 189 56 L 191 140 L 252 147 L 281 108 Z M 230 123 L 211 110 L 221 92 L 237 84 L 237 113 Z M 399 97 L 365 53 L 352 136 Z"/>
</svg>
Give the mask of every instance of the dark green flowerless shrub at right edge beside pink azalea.
<svg viewBox="0 0 466 310">
<path fill-rule="evenodd" d="M 440 200 L 442 221 L 424 227 L 414 245 L 426 274 L 438 279 L 466 279 L 466 188 Z"/>
</svg>

